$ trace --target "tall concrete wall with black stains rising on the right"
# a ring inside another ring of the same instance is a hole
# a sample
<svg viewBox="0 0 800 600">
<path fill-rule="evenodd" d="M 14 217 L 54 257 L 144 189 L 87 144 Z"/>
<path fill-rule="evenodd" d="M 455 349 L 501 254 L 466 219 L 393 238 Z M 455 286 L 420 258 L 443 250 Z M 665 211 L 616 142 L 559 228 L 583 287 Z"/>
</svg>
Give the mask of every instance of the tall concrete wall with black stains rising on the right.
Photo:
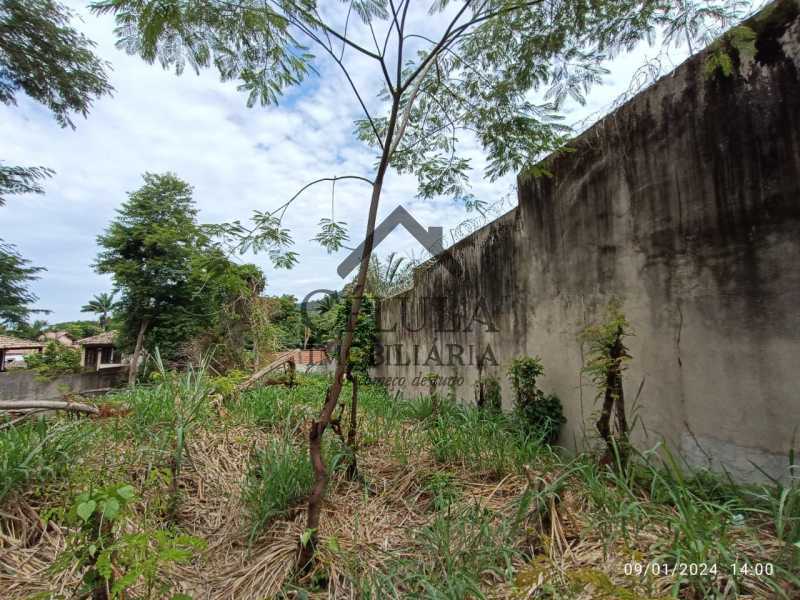
<svg viewBox="0 0 800 600">
<path fill-rule="evenodd" d="M 509 407 L 510 361 L 539 355 L 562 442 L 583 447 L 598 406 L 577 337 L 616 296 L 636 334 L 635 439 L 740 479 L 758 478 L 752 463 L 786 476 L 800 440 L 799 6 L 751 23 L 758 53 L 732 76 L 708 78 L 701 53 L 548 159 L 552 177 L 520 176 L 515 210 L 384 301 L 396 329 L 375 374 L 407 395 L 427 390 L 420 375 L 455 377 L 470 402 L 489 345 L 482 370 Z"/>
</svg>

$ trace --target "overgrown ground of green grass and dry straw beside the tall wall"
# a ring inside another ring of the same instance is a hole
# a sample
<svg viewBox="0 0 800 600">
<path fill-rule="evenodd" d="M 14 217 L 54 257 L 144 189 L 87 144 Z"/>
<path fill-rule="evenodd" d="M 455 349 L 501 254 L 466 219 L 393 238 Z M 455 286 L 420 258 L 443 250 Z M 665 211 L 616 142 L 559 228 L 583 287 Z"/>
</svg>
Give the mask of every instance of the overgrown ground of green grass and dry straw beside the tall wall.
<svg viewBox="0 0 800 600">
<path fill-rule="evenodd" d="M 797 483 L 737 487 L 655 451 L 601 465 L 513 415 L 370 386 L 358 477 L 325 438 L 317 561 L 297 572 L 326 385 L 223 398 L 190 371 L 106 398 L 99 419 L 4 427 L 0 596 L 88 597 L 105 580 L 159 599 L 800 594 Z"/>
</svg>

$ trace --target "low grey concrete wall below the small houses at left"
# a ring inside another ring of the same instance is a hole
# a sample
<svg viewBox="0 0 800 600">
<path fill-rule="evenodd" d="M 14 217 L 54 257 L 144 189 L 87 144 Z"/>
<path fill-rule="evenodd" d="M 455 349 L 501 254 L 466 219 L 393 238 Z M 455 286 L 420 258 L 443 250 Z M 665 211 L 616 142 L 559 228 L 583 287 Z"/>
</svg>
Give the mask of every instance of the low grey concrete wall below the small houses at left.
<svg viewBox="0 0 800 600">
<path fill-rule="evenodd" d="M 12 369 L 0 373 L 0 400 L 53 400 L 65 391 L 81 393 L 115 387 L 124 383 L 127 368 L 104 369 L 99 372 L 60 375 L 43 380 L 35 371 Z"/>
</svg>

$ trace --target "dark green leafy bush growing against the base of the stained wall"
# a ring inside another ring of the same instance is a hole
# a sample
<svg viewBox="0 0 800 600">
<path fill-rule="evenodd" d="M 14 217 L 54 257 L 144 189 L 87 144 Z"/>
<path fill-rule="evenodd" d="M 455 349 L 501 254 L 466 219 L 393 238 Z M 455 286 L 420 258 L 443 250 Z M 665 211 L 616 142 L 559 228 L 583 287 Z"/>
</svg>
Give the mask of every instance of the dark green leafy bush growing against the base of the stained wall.
<svg viewBox="0 0 800 600">
<path fill-rule="evenodd" d="M 561 426 L 567 420 L 558 397 L 553 394 L 545 395 L 536 386 L 536 380 L 543 374 L 541 360 L 530 356 L 515 358 L 508 370 L 516 394 L 517 414 L 523 425 L 542 441 L 554 444 L 558 440 Z"/>
</svg>

